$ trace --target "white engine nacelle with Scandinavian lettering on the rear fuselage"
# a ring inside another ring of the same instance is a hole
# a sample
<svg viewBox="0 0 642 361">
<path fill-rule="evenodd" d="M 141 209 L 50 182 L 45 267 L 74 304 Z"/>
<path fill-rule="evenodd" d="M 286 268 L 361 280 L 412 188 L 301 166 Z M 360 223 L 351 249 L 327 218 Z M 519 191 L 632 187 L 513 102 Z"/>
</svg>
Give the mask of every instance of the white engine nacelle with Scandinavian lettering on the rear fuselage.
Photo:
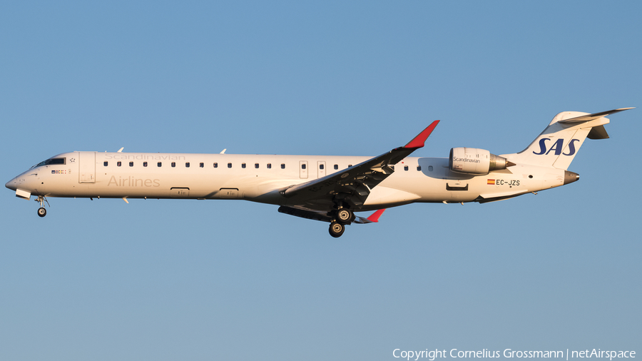
<svg viewBox="0 0 642 361">
<path fill-rule="evenodd" d="M 483 175 L 514 166 L 514 163 L 484 149 L 459 147 L 450 149 L 448 166 L 453 172 Z"/>
</svg>

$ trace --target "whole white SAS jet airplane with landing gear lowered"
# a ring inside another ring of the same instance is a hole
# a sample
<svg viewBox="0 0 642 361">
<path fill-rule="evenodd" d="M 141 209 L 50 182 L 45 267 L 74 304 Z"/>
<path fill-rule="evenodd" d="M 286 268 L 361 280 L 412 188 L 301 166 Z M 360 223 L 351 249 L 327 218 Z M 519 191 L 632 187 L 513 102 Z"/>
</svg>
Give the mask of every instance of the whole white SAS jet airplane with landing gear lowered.
<svg viewBox="0 0 642 361">
<path fill-rule="evenodd" d="M 47 197 L 228 199 L 279 205 L 278 211 L 330 223 L 340 237 L 352 223 L 376 223 L 409 203 L 488 203 L 579 180 L 567 171 L 585 138 L 604 139 L 610 114 L 558 113 L 519 153 L 496 156 L 451 148 L 448 158 L 409 157 L 439 121 L 405 146 L 374 158 L 190 153 L 61 153 L 9 180 L 6 188 L 40 203 Z M 357 211 L 375 212 L 367 218 Z"/>
</svg>

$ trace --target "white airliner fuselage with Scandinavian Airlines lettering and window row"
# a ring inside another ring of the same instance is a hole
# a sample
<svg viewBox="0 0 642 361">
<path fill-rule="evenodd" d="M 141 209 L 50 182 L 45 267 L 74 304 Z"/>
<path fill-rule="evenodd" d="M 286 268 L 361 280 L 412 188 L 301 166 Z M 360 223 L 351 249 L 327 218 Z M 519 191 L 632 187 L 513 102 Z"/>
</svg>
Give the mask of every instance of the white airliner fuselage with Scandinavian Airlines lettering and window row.
<svg viewBox="0 0 642 361">
<path fill-rule="evenodd" d="M 297 205 L 280 190 L 372 157 L 71 152 L 53 158 L 64 158 L 64 163 L 31 168 L 6 183 L 7 188 L 47 197 L 244 199 Z M 471 202 L 480 196 L 510 198 L 563 184 L 564 171 L 550 167 L 517 165 L 472 176 L 450 171 L 448 158 L 408 157 L 372 188 L 360 210 Z"/>
</svg>

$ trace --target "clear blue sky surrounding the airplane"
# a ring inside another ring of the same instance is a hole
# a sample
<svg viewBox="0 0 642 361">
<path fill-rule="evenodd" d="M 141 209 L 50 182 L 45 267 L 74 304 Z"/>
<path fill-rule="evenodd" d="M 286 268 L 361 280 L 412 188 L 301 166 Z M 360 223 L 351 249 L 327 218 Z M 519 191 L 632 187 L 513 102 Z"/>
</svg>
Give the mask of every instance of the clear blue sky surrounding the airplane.
<svg viewBox="0 0 642 361">
<path fill-rule="evenodd" d="M 4 182 L 66 151 L 513 153 L 560 111 L 641 106 L 636 1 L 0 5 Z M 332 239 L 243 201 L 5 190 L 3 360 L 397 360 L 642 351 L 639 109 L 577 183 L 408 205 Z"/>
</svg>

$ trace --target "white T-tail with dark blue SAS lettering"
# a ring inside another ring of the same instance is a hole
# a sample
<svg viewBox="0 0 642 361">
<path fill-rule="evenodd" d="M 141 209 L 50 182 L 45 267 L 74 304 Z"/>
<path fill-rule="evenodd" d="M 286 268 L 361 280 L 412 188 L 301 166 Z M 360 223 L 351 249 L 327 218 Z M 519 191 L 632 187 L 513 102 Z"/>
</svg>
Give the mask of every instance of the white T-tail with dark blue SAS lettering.
<svg viewBox="0 0 642 361">
<path fill-rule="evenodd" d="M 501 156 L 516 164 L 553 167 L 566 171 L 584 139 L 608 138 L 604 125 L 608 124 L 609 120 L 605 117 L 628 109 L 633 108 L 619 108 L 593 114 L 563 111 L 553 118 L 549 126 L 524 151 Z"/>
</svg>

